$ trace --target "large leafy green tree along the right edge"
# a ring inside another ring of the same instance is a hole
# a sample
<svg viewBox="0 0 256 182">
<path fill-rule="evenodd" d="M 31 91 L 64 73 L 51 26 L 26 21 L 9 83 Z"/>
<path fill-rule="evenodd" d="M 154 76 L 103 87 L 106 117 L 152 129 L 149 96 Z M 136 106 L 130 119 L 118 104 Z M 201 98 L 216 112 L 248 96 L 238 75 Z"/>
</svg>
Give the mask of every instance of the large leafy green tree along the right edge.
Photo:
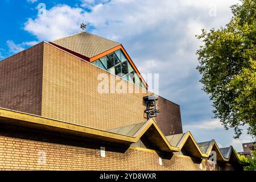
<svg viewBox="0 0 256 182">
<path fill-rule="evenodd" d="M 256 0 L 241 0 L 231 6 L 233 17 L 225 27 L 196 35 L 203 40 L 197 51 L 203 90 L 213 101 L 214 118 L 234 138 L 247 133 L 256 136 Z"/>
</svg>

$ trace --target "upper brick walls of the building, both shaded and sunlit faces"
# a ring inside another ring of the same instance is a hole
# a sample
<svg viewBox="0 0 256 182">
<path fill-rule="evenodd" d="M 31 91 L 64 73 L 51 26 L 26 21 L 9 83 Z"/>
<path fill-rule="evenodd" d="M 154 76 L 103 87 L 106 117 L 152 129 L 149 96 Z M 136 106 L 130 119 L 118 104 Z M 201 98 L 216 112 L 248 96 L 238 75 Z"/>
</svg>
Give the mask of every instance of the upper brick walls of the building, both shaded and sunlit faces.
<svg viewBox="0 0 256 182">
<path fill-rule="evenodd" d="M 147 121 L 143 97 L 149 94 L 123 81 L 138 93 L 98 93 L 98 75 L 117 79 L 50 44 L 40 43 L 0 61 L 0 107 L 79 125 L 108 130 Z M 118 80 L 119 79 L 119 80 Z M 160 97 L 155 118 L 165 134 L 182 133 L 179 106 Z"/>
</svg>

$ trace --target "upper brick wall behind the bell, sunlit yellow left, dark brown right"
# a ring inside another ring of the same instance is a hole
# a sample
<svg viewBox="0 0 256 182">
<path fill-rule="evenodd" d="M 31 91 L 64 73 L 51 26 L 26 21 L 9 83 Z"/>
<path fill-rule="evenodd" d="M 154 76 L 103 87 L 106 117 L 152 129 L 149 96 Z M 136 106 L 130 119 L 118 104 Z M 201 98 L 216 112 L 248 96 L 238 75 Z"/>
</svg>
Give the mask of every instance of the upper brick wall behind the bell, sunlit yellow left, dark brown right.
<svg viewBox="0 0 256 182">
<path fill-rule="evenodd" d="M 142 93 L 141 88 L 134 84 L 128 86 L 140 90 L 139 93 L 98 93 L 99 73 L 105 73 L 109 79 L 110 76 L 116 77 L 44 44 L 42 115 L 104 130 L 146 122 L 143 97 L 152 93 Z M 113 83 L 109 84 L 112 88 Z M 179 106 L 163 98 L 158 105 L 160 114 L 156 122 L 162 130 L 167 134 L 182 133 Z"/>
</svg>

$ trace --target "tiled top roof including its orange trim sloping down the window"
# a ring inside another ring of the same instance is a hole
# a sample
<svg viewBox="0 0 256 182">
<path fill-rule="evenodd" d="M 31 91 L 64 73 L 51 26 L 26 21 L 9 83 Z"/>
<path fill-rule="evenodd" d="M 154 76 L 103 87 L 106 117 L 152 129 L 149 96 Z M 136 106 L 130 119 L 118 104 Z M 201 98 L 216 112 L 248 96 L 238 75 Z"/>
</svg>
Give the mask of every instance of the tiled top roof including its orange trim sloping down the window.
<svg viewBox="0 0 256 182">
<path fill-rule="evenodd" d="M 101 38 L 100 36 L 88 32 L 80 32 L 78 34 L 53 40 L 52 42 L 49 42 L 49 44 L 80 57 L 80 59 L 89 61 L 90 63 L 121 49 L 134 72 L 138 74 L 142 84 L 146 89 L 148 88 L 146 81 L 121 43 Z"/>
</svg>

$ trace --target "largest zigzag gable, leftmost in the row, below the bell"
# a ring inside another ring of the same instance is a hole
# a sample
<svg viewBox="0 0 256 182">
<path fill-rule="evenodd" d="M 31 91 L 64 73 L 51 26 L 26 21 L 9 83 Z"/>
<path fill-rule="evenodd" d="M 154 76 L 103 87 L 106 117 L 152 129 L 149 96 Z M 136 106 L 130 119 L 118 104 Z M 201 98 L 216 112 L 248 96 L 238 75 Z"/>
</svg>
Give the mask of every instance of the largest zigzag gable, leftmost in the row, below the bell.
<svg viewBox="0 0 256 182">
<path fill-rule="evenodd" d="M 171 146 L 171 144 L 168 142 L 166 137 L 164 137 L 162 131 L 152 118 L 148 119 L 148 121 L 145 123 L 123 126 L 108 131 L 133 137 L 134 143 L 138 142 L 138 140 L 142 137 L 146 137 L 148 142 L 150 142 L 152 146 L 155 146 L 155 148 L 158 148 L 159 151 L 179 151 L 177 147 Z"/>
</svg>

